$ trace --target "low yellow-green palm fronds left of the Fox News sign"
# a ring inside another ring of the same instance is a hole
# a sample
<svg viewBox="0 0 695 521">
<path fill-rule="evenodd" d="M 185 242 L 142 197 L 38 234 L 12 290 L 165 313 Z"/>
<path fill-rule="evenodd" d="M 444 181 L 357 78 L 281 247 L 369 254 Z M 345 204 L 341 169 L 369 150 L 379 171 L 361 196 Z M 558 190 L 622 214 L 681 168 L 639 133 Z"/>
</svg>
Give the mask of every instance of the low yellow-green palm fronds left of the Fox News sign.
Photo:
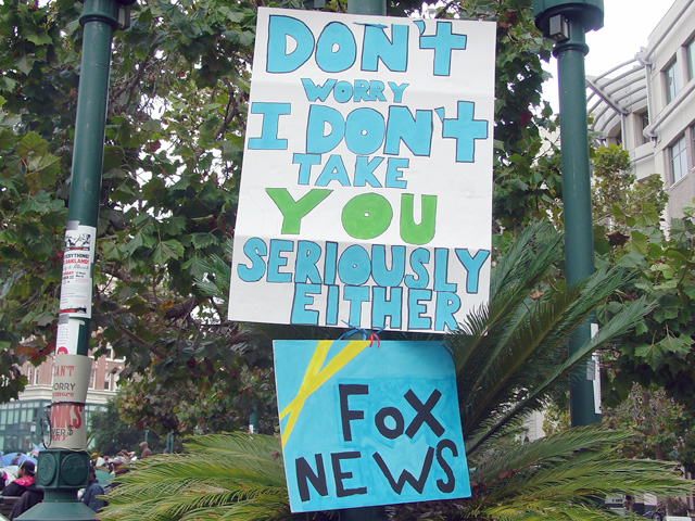
<svg viewBox="0 0 695 521">
<path fill-rule="evenodd" d="M 254 505 L 264 506 L 267 519 L 290 514 L 276 437 L 213 434 L 189 440 L 186 448 L 188 454 L 137 461 L 132 471 L 121 474 L 101 519 L 172 521 L 199 519 L 199 513 L 200 519 L 216 519 L 223 510 Z M 283 507 L 270 511 L 270 504 Z"/>
</svg>

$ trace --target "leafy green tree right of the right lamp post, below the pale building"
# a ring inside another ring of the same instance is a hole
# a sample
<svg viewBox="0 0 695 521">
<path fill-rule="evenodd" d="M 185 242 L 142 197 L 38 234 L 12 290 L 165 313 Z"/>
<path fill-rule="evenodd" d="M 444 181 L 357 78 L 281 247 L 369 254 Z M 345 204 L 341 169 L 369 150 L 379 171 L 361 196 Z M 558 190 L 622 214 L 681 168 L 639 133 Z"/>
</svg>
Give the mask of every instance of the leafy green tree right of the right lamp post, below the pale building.
<svg viewBox="0 0 695 521">
<path fill-rule="evenodd" d="M 622 293 L 599 314 L 605 320 L 636 298 L 654 310 L 604 353 L 604 396 L 609 406 L 626 399 L 634 383 L 664 386 L 670 397 L 695 412 L 692 367 L 695 338 L 695 205 L 686 218 L 672 219 L 668 233 L 661 214 L 668 196 L 658 176 L 636 183 L 628 153 L 598 149 L 594 158 L 594 242 L 599 265 L 623 266 L 634 274 Z"/>
</svg>

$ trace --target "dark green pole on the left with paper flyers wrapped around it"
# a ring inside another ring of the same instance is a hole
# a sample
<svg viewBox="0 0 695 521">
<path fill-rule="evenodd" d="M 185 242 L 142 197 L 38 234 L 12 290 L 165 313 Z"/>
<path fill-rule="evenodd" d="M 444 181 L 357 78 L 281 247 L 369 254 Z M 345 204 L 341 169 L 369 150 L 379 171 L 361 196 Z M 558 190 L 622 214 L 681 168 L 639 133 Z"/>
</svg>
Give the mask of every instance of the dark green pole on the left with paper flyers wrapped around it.
<svg viewBox="0 0 695 521">
<path fill-rule="evenodd" d="M 99 215 L 111 42 L 113 33 L 118 27 L 122 3 L 116 0 L 85 0 L 83 14 L 79 18 L 84 27 L 83 56 L 66 238 L 70 230 L 92 229 L 93 233 L 90 233 L 94 236 L 90 238 L 92 243 L 96 240 Z M 85 255 L 88 256 L 88 254 Z M 70 289 L 66 290 L 65 274 L 64 264 L 61 291 L 70 292 Z M 84 274 L 93 274 L 93 251 L 89 260 L 89 269 Z M 91 276 L 88 280 L 91 281 Z M 70 300 L 67 298 L 67 301 Z M 77 302 L 79 298 L 73 296 L 72 300 Z M 61 301 L 59 329 L 61 323 L 66 327 L 65 331 L 68 331 L 66 336 L 70 336 L 70 340 L 63 342 L 64 345 L 71 347 L 64 353 L 59 351 L 56 356 L 67 357 L 63 358 L 67 361 L 61 367 L 72 368 L 68 370 L 72 374 L 73 369 L 78 366 L 91 368 L 91 360 L 88 359 L 91 302 L 87 303 L 87 308 L 81 304 L 79 309 L 71 309 L 70 307 L 70 304 L 65 305 L 63 300 Z M 75 386 L 86 390 L 89 370 L 75 370 L 74 373 Z M 81 381 L 85 379 L 87 381 Z M 71 402 L 70 398 L 67 401 L 56 398 L 56 395 L 53 395 L 53 412 L 61 410 L 60 414 L 51 415 L 50 439 L 54 448 L 49 447 L 39 454 L 36 473 L 36 484 L 45 490 L 45 498 L 42 503 L 17 518 L 22 521 L 96 519 L 94 512 L 87 505 L 77 503 L 77 491 L 88 483 L 89 454 L 86 443 L 85 446 L 79 447 L 75 446 L 73 441 L 62 443 L 65 440 L 65 432 L 71 430 L 71 432 L 75 432 L 75 430 L 85 427 L 85 404 L 80 404 L 79 398 L 74 399 L 77 402 Z M 67 411 L 67 415 L 63 415 L 63 411 Z M 62 422 L 66 422 L 67 427 L 61 427 L 59 423 Z M 79 444 L 79 442 L 77 443 Z"/>
</svg>

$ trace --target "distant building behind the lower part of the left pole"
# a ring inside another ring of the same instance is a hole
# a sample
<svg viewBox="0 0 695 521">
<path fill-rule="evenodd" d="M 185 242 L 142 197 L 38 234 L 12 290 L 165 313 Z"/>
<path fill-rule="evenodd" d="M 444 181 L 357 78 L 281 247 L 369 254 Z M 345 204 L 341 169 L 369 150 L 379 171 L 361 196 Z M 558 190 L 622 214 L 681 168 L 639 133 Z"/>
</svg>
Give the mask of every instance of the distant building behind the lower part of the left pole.
<svg viewBox="0 0 695 521">
<path fill-rule="evenodd" d="M 85 405 L 87 422 L 91 412 L 102 408 L 115 396 L 122 370 L 123 359 L 114 359 L 111 352 L 93 361 Z M 26 453 L 31 449 L 33 444 L 40 445 L 48 439 L 53 357 L 38 367 L 25 363 L 22 374 L 27 377 L 28 383 L 18 399 L 0 405 L 0 449 L 3 453 Z"/>
</svg>

